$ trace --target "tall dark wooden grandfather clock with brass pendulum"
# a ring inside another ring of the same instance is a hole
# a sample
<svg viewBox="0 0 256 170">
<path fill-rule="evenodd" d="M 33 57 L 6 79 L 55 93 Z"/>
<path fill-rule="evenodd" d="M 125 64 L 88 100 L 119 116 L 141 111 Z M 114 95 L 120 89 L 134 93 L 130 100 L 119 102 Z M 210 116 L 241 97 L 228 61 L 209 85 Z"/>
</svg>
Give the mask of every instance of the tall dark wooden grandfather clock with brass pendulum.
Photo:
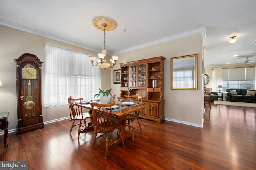
<svg viewBox="0 0 256 170">
<path fill-rule="evenodd" d="M 18 125 L 16 134 L 44 128 L 42 115 L 42 63 L 36 55 L 23 54 L 16 62 Z"/>
</svg>

